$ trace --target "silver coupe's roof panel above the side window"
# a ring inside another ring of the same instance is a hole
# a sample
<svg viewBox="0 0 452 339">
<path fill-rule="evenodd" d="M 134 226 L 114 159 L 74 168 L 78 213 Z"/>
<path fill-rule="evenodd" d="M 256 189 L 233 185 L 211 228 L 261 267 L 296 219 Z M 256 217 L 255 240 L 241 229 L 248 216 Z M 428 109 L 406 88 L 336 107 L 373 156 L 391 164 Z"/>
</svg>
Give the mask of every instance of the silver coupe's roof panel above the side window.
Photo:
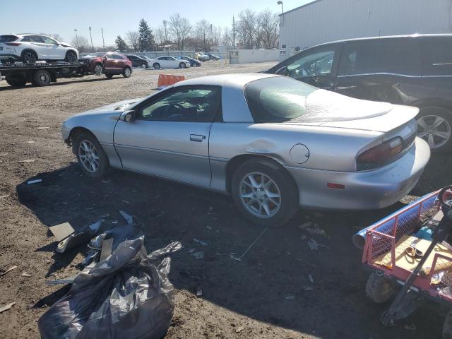
<svg viewBox="0 0 452 339">
<path fill-rule="evenodd" d="M 198 78 L 191 78 L 185 81 L 175 83 L 174 87 L 184 85 L 211 85 L 232 88 L 243 88 L 247 83 L 263 78 L 275 77 L 274 74 L 266 73 L 237 73 L 237 74 L 220 74 L 217 76 L 201 76 Z"/>
</svg>

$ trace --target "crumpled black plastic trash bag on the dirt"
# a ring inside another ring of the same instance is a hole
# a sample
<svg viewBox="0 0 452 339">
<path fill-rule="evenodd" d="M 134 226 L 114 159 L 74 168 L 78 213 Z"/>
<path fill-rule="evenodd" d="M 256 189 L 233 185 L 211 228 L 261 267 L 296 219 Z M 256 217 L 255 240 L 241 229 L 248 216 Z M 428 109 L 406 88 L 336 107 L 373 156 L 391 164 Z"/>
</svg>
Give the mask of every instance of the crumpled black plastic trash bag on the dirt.
<svg viewBox="0 0 452 339">
<path fill-rule="evenodd" d="M 121 242 L 112 255 L 74 280 L 71 290 L 38 320 L 43 339 L 146 338 L 165 335 L 174 310 L 167 275 L 180 242 L 149 256 L 144 237 Z"/>
</svg>

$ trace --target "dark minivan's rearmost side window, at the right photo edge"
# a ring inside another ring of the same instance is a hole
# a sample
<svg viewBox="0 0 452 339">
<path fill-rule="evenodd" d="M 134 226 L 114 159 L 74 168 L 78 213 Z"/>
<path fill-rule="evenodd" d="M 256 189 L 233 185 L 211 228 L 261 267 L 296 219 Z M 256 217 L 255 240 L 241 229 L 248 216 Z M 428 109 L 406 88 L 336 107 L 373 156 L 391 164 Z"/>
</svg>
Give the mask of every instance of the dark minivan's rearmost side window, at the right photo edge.
<svg viewBox="0 0 452 339">
<path fill-rule="evenodd" d="M 422 75 L 452 75 L 452 40 L 448 37 L 424 37 L 421 42 Z"/>
</svg>

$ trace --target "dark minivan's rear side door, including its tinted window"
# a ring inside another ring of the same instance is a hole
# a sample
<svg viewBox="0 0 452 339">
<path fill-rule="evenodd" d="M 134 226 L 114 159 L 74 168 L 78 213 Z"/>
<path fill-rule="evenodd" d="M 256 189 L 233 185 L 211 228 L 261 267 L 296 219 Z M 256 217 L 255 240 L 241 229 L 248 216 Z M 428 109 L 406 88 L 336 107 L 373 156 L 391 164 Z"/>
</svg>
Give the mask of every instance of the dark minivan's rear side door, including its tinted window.
<svg viewBox="0 0 452 339">
<path fill-rule="evenodd" d="M 398 37 L 345 43 L 335 91 L 359 99 L 408 105 L 420 85 L 420 46 Z"/>
</svg>

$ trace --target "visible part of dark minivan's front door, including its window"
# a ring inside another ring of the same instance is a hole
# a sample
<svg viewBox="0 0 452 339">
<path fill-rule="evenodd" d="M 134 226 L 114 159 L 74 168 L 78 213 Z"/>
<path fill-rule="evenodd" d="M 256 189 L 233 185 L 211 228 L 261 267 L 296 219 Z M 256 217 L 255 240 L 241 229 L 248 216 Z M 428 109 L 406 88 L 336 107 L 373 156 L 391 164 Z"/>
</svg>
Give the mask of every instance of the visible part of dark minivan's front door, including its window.
<svg viewBox="0 0 452 339">
<path fill-rule="evenodd" d="M 341 44 L 314 47 L 290 58 L 284 75 L 318 88 L 333 90 Z"/>
</svg>

